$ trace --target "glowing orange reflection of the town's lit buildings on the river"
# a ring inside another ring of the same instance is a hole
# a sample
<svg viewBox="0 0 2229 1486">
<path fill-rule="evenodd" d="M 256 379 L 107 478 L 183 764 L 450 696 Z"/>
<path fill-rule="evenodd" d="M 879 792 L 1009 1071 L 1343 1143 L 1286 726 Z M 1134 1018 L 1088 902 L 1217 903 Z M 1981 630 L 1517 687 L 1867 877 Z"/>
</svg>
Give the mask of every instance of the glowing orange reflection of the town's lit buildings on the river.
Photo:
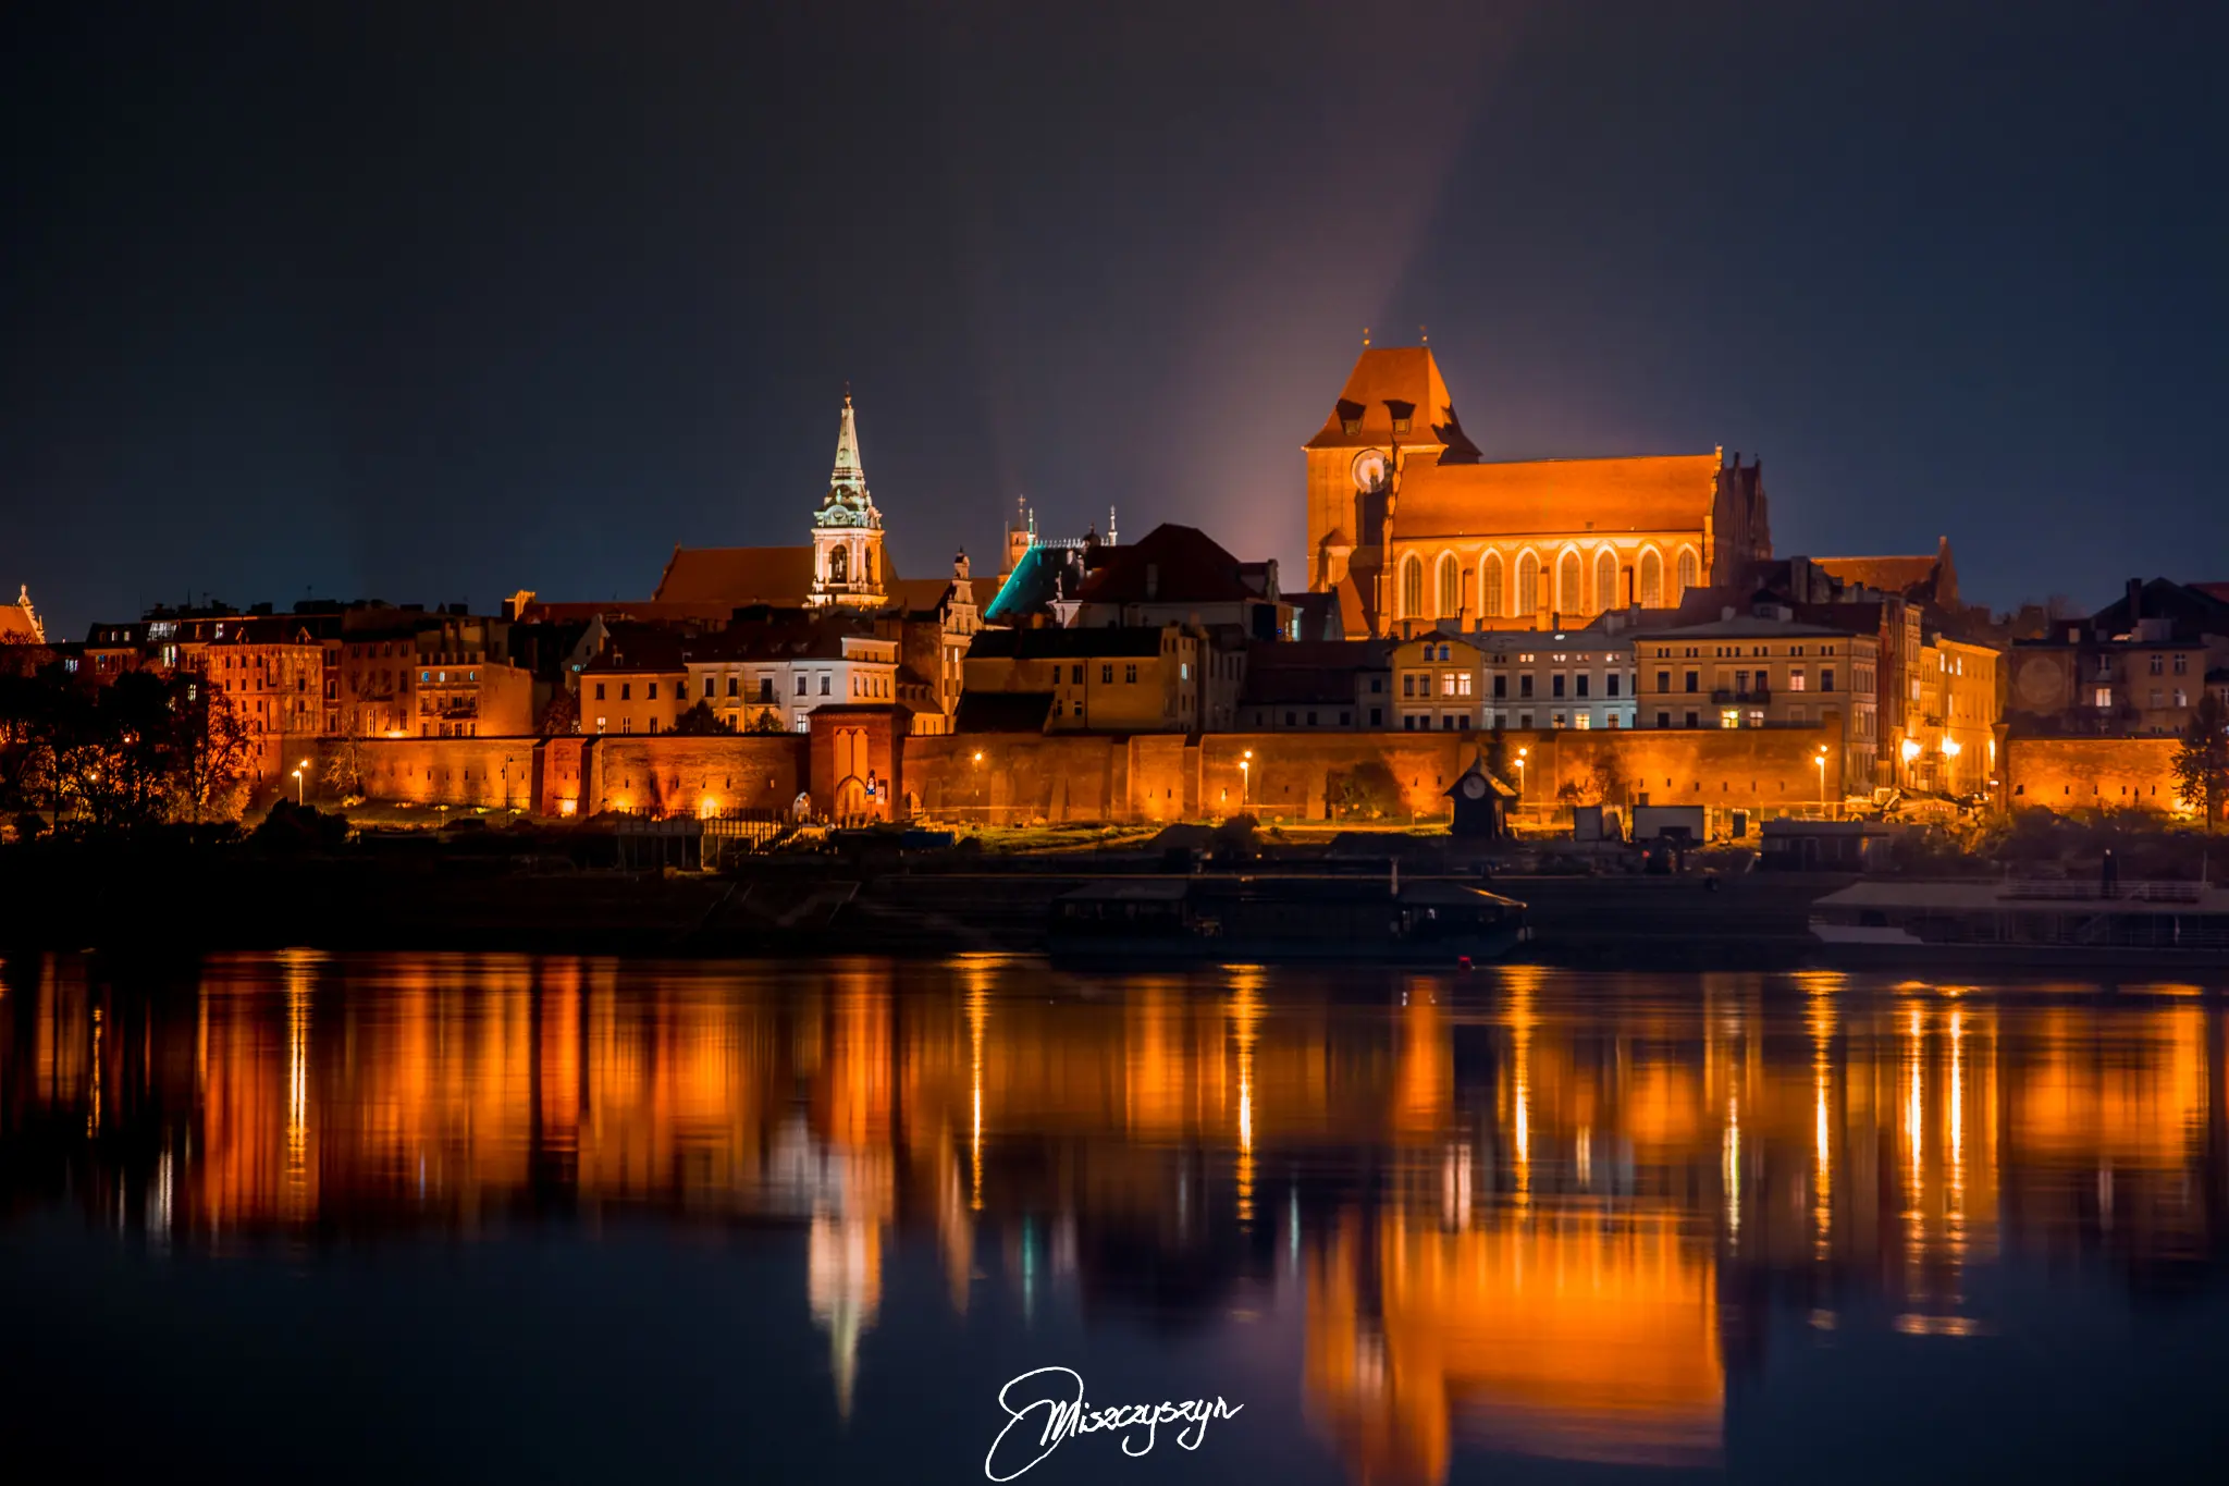
<svg viewBox="0 0 2229 1486">
<path fill-rule="evenodd" d="M 7 967 L 0 1201 L 303 1250 L 782 1223 L 843 1415 L 898 1250 L 1155 1321 L 1300 1317 L 1351 1479 L 1710 1466 L 1770 1314 L 1957 1339 L 2008 1250 L 2222 1250 L 2222 1014 L 1794 978 L 1065 980 L 314 954 Z"/>
</svg>

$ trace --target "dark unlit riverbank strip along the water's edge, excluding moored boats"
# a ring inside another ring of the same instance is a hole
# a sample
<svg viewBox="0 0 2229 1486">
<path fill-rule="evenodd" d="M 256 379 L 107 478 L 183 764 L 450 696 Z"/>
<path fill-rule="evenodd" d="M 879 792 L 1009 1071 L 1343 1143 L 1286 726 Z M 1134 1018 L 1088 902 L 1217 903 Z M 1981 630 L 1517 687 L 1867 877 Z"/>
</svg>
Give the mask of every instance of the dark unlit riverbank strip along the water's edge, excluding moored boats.
<svg viewBox="0 0 2229 1486">
<path fill-rule="evenodd" d="M 1097 856 L 872 867 L 769 858 L 733 873 L 575 869 L 457 856 L 424 860 L 47 853 L 0 862 L 0 947 L 198 954 L 212 949 L 473 949 L 660 956 L 1034 954 L 1059 893 L 1110 873 Z M 1250 864 L 1248 871 L 1324 871 Z M 1349 869 L 1355 893 L 1389 878 Z M 1440 876 L 1440 873 L 1406 873 Z M 1456 876 L 1456 873 L 1449 873 Z M 1460 880 L 1478 882 L 1478 876 Z M 1774 969 L 1812 951 L 1810 902 L 1841 876 L 1498 876 L 1529 909 L 1527 958 L 1549 965 Z"/>
</svg>

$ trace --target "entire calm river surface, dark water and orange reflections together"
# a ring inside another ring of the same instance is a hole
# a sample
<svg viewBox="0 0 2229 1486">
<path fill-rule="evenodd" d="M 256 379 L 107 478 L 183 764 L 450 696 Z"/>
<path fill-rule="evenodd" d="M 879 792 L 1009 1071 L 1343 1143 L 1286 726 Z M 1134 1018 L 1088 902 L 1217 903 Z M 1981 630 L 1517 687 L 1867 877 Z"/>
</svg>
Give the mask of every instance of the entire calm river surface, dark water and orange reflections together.
<svg viewBox="0 0 2229 1486">
<path fill-rule="evenodd" d="M 2225 1239 L 2184 985 L 0 971 L 74 1479 L 2198 1479 Z"/>
</svg>

